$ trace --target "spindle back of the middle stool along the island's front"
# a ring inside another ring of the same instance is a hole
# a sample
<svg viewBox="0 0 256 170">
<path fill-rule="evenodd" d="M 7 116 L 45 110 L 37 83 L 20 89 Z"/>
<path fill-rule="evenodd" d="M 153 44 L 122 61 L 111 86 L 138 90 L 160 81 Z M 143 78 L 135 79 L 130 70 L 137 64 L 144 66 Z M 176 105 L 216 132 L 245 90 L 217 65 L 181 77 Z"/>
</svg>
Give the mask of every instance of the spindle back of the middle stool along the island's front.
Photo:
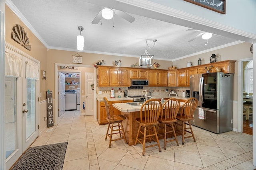
<svg viewBox="0 0 256 170">
<path fill-rule="evenodd" d="M 180 101 L 176 98 L 170 98 L 162 105 L 161 119 L 165 121 L 172 121 L 176 119 L 176 116 L 180 109 Z"/>
</svg>

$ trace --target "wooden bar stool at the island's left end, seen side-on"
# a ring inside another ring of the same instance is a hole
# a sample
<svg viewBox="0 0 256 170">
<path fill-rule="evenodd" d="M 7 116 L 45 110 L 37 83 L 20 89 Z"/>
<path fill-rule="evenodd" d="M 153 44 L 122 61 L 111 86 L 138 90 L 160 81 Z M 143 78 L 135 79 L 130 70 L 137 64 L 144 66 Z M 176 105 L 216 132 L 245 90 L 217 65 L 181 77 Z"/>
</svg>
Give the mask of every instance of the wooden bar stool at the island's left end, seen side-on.
<svg viewBox="0 0 256 170">
<path fill-rule="evenodd" d="M 104 104 L 106 107 L 106 113 L 107 113 L 107 120 L 108 120 L 108 130 L 106 133 L 106 137 L 105 137 L 105 141 L 107 140 L 107 137 L 109 137 L 109 145 L 108 147 L 111 147 L 111 142 L 112 141 L 117 141 L 117 140 L 121 140 L 124 139 L 125 144 L 127 144 L 126 138 L 125 138 L 125 134 L 124 134 L 124 127 L 122 124 L 122 121 L 126 119 L 126 117 L 124 115 L 114 115 L 112 110 L 110 109 L 110 106 L 108 104 L 108 100 L 106 97 L 103 98 L 104 100 Z M 118 129 L 113 129 L 113 127 L 118 127 Z M 111 129 L 110 133 L 108 133 L 109 128 Z M 118 132 L 116 132 L 118 131 Z M 115 133 L 113 133 L 115 132 Z M 119 134 L 120 138 L 118 139 L 112 139 L 112 135 L 114 134 Z"/>
</svg>

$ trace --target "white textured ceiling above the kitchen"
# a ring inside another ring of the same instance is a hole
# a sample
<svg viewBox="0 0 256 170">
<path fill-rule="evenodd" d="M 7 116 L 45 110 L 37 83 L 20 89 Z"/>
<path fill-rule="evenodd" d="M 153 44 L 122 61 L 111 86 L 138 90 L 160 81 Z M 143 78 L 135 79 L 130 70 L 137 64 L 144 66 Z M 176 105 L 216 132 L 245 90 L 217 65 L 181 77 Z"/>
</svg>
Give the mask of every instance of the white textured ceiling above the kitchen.
<svg viewBox="0 0 256 170">
<path fill-rule="evenodd" d="M 154 48 L 148 53 L 156 59 L 173 60 L 207 49 L 212 49 L 237 40 L 212 35 L 205 45 L 198 31 L 180 25 L 174 25 L 144 16 L 130 14 L 136 20 L 132 23 L 114 15 L 114 19 L 102 19 L 98 24 L 92 20 L 104 6 L 90 4 L 83 0 L 11 0 L 13 8 L 32 25 L 30 29 L 49 49 L 76 50 L 78 25 L 82 25 L 85 37 L 84 52 L 106 53 L 122 56 L 140 56 L 144 54 L 146 39 L 157 39 Z M 27 25 L 28 26 L 28 25 Z M 28 26 L 29 27 L 29 26 Z M 148 41 L 152 47 L 153 42 Z"/>
</svg>

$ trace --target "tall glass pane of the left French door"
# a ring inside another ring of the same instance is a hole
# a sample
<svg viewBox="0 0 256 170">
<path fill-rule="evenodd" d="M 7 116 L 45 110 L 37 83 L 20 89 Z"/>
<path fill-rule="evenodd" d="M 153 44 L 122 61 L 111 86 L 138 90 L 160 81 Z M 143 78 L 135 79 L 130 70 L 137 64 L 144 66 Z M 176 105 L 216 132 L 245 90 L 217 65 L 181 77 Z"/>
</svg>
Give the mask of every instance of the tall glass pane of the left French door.
<svg viewBox="0 0 256 170">
<path fill-rule="evenodd" d="M 6 158 L 17 149 L 17 78 L 5 76 Z"/>
</svg>

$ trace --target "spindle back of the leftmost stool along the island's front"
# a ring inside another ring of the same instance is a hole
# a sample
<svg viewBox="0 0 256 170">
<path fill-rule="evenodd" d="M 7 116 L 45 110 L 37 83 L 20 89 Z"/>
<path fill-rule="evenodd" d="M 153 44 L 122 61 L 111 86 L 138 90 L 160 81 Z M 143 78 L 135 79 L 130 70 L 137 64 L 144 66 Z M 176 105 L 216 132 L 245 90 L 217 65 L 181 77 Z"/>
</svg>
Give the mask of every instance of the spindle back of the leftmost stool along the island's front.
<svg viewBox="0 0 256 170">
<path fill-rule="evenodd" d="M 144 102 L 140 108 L 140 122 L 156 123 L 160 116 L 162 104 L 160 100 L 150 99 Z"/>
</svg>

